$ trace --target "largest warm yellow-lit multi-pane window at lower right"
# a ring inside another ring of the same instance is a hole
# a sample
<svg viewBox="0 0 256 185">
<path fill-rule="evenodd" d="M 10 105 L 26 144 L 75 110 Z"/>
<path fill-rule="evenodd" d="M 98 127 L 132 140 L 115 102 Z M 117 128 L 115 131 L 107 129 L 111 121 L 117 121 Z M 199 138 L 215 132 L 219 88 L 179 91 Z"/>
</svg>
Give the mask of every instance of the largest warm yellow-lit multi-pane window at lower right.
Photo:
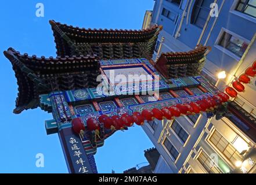
<svg viewBox="0 0 256 185">
<path fill-rule="evenodd" d="M 228 140 L 223 138 L 218 131 L 214 131 L 210 141 L 233 165 L 235 165 L 237 161 L 243 160 L 243 156 L 240 155 L 239 151 L 237 151 Z"/>
</svg>

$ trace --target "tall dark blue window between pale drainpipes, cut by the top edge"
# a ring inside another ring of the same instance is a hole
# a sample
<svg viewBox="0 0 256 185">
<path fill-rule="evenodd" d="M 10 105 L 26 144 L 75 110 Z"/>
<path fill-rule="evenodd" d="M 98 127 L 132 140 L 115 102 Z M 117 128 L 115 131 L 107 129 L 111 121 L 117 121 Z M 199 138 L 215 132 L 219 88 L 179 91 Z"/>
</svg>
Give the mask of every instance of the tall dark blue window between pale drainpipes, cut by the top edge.
<svg viewBox="0 0 256 185">
<path fill-rule="evenodd" d="M 214 0 L 196 0 L 191 16 L 191 24 L 203 28 L 211 11 L 210 5 Z"/>
</svg>

